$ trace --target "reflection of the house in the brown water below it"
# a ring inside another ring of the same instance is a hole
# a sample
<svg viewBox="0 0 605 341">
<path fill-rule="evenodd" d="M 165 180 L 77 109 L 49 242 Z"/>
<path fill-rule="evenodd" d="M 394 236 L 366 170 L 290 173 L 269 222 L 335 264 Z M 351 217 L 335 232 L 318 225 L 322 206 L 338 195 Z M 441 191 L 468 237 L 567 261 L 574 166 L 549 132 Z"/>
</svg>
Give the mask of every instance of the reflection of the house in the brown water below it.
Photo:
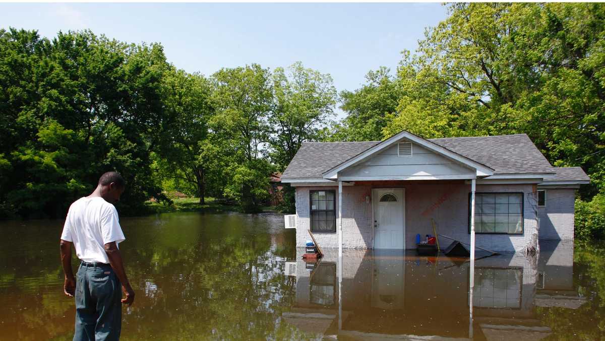
<svg viewBox="0 0 605 341">
<path fill-rule="evenodd" d="M 477 259 L 472 307 L 465 259 L 345 250 L 342 263 L 337 252 L 307 263 L 299 250 L 296 270 L 290 268 L 296 304 L 283 317 L 318 337 L 341 339 L 543 339 L 552 331 L 535 317 L 535 305 L 578 308 L 585 300 L 572 283 L 573 245 L 541 248 L 535 257 Z"/>
</svg>

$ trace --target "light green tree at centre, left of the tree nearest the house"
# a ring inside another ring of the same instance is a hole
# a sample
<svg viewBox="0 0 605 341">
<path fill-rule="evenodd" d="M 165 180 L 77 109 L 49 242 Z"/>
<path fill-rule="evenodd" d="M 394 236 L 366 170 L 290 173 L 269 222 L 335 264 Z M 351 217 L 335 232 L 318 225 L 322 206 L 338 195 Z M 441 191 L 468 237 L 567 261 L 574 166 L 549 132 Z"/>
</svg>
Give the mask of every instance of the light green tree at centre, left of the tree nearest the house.
<svg viewBox="0 0 605 341">
<path fill-rule="evenodd" d="M 258 64 L 223 68 L 212 76 L 214 92 L 212 130 L 228 141 L 220 148 L 228 166 L 224 194 L 237 200 L 244 210 L 258 210 L 267 195 L 270 164 L 266 154 L 269 137 L 267 118 L 272 110 L 273 94 L 268 69 Z"/>
</svg>

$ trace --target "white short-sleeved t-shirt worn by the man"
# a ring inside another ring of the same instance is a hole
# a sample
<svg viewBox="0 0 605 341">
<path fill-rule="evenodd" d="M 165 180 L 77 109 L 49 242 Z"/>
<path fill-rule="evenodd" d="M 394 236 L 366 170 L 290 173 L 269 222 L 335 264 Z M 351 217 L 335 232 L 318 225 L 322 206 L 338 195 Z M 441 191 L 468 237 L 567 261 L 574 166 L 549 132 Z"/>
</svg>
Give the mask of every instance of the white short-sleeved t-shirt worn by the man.
<svg viewBox="0 0 605 341">
<path fill-rule="evenodd" d="M 67 212 L 61 239 L 74 243 L 77 257 L 85 262 L 109 263 L 105 244 L 125 241 L 116 207 L 100 196 L 80 198 Z"/>
</svg>

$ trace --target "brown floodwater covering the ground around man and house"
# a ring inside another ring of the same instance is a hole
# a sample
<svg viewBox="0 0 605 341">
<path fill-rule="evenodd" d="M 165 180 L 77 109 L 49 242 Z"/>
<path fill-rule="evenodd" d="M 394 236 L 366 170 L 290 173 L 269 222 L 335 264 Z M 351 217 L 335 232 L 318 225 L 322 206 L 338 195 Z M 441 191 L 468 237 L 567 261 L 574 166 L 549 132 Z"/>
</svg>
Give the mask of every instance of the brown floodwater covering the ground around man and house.
<svg viewBox="0 0 605 341">
<path fill-rule="evenodd" d="M 603 245 L 549 242 L 535 257 L 479 259 L 471 297 L 464 259 L 350 250 L 342 262 L 335 251 L 304 262 L 278 214 L 121 222 L 137 294 L 122 340 L 605 339 Z M 0 221 L 0 339 L 73 336 L 61 228 Z"/>
</svg>

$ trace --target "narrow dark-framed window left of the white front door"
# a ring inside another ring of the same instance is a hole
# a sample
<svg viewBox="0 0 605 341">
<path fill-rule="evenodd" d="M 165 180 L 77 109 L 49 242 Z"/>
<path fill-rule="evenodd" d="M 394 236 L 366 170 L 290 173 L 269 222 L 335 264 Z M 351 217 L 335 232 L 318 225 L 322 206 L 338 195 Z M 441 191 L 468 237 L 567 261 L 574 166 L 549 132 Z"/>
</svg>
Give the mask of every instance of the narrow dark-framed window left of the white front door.
<svg viewBox="0 0 605 341">
<path fill-rule="evenodd" d="M 310 191 L 311 230 L 313 232 L 336 232 L 336 205 L 334 190 Z"/>
</svg>

